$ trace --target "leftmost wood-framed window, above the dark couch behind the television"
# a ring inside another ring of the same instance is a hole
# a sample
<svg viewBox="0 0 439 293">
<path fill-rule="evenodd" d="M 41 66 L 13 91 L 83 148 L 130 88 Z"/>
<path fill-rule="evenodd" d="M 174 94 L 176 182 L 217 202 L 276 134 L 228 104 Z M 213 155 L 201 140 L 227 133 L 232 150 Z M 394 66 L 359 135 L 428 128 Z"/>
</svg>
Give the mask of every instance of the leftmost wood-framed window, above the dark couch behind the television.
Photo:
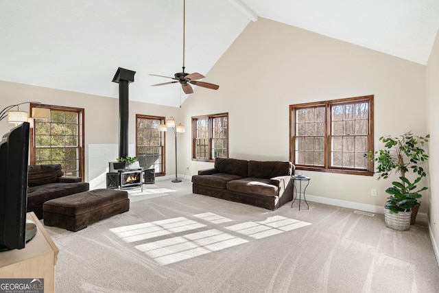
<svg viewBox="0 0 439 293">
<path fill-rule="evenodd" d="M 35 119 L 31 130 L 30 163 L 61 164 L 64 176 L 84 178 L 84 109 L 31 104 L 49 108 L 49 119 Z"/>
</svg>

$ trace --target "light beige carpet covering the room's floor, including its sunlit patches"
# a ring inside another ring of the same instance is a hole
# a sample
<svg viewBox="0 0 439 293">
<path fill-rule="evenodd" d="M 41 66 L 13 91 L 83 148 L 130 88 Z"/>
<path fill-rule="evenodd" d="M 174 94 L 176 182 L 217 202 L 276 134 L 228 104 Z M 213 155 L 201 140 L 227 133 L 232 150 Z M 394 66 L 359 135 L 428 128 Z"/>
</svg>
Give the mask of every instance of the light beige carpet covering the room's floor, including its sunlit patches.
<svg viewBox="0 0 439 293">
<path fill-rule="evenodd" d="M 394 231 L 383 215 L 314 202 L 269 211 L 192 194 L 187 180 L 138 196 L 78 232 L 46 226 L 56 292 L 439 292 L 425 226 Z"/>
</svg>

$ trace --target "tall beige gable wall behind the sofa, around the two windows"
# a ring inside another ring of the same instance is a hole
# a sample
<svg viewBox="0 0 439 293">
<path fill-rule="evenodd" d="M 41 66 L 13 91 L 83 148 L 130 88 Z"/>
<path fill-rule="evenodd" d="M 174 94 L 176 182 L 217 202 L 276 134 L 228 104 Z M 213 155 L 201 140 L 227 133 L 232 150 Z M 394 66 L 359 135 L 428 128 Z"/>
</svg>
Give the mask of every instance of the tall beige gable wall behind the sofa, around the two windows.
<svg viewBox="0 0 439 293">
<path fill-rule="evenodd" d="M 425 66 L 267 19 L 250 23 L 206 76 L 219 90 L 196 89 L 182 106 L 185 124 L 191 116 L 228 112 L 233 158 L 288 160 L 289 105 L 344 97 L 375 95 L 376 147 L 381 135 L 426 134 Z M 187 164 L 195 171 L 213 166 Z M 309 195 L 383 212 L 391 180 L 303 173 L 312 178 Z M 370 196 L 372 188 L 378 197 Z M 421 213 L 427 202 L 425 196 Z"/>
</svg>

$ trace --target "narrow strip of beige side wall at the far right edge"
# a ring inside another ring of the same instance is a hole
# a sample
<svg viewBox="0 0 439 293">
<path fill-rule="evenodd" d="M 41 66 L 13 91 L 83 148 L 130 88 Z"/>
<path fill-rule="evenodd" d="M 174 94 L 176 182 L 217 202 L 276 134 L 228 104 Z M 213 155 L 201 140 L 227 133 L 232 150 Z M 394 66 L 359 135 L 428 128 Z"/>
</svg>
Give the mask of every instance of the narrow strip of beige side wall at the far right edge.
<svg viewBox="0 0 439 293">
<path fill-rule="evenodd" d="M 429 141 L 429 209 L 428 222 L 434 242 L 436 258 L 439 259 L 439 32 L 431 50 L 427 65 L 427 131 L 431 134 Z"/>
</svg>

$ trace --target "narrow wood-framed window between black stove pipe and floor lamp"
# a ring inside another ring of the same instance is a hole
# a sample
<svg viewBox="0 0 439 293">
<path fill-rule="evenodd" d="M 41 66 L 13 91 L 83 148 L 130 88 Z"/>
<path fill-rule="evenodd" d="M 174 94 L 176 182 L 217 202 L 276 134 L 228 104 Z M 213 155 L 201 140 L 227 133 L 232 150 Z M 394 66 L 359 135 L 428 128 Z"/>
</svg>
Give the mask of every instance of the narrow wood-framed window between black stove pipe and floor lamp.
<svg viewBox="0 0 439 293">
<path fill-rule="evenodd" d="M 136 115 L 136 156 L 143 169 L 154 169 L 156 176 L 165 175 L 165 135 L 158 126 L 165 117 Z"/>
</svg>

